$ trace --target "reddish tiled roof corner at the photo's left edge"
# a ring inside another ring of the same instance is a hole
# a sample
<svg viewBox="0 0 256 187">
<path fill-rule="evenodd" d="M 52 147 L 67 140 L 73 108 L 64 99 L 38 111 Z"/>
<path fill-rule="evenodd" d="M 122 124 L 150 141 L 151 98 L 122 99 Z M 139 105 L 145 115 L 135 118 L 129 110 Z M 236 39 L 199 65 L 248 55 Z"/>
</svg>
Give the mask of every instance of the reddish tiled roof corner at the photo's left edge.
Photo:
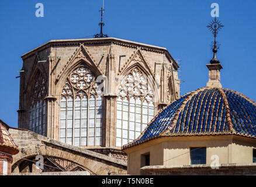
<svg viewBox="0 0 256 187">
<path fill-rule="evenodd" d="M 18 151 L 18 146 L 16 146 L 15 142 L 13 141 L 13 138 L 11 137 L 11 134 L 7 129 L 7 125 L 4 122 L 2 122 L 2 120 L 0 120 L 0 150 L 1 147 L 9 147 L 12 150 Z M 14 152 L 16 153 L 17 151 Z"/>
</svg>

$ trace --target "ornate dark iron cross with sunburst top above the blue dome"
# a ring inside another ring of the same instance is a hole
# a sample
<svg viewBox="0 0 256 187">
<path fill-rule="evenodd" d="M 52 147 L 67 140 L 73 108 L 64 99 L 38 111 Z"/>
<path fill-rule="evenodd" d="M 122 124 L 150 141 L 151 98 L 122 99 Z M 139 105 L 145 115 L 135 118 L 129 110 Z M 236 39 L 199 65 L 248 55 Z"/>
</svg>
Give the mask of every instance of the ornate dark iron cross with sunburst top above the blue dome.
<svg viewBox="0 0 256 187">
<path fill-rule="evenodd" d="M 212 22 L 209 23 L 209 25 L 207 25 L 207 27 L 209 28 L 209 30 L 213 33 L 213 37 L 215 37 L 215 41 L 212 42 L 212 51 L 213 51 L 213 58 L 212 60 L 210 60 L 211 64 L 219 64 L 220 61 L 217 59 L 216 53 L 217 53 L 217 49 L 219 49 L 219 42 L 216 41 L 216 37 L 217 34 L 219 33 L 220 29 L 222 29 L 222 27 L 224 27 L 224 25 L 222 25 L 222 23 L 220 23 L 219 20 L 215 19 L 212 20 Z"/>
</svg>

